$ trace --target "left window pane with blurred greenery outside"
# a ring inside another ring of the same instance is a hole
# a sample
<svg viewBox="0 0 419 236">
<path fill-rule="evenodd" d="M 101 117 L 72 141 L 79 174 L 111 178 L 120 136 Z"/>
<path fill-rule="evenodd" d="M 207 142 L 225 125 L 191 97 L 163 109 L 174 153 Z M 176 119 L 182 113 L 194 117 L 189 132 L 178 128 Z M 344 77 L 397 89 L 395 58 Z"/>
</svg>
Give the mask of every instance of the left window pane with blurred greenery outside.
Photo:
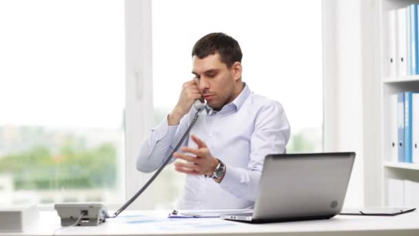
<svg viewBox="0 0 419 236">
<path fill-rule="evenodd" d="M 123 14 L 123 1 L 0 2 L 2 203 L 125 197 Z"/>
</svg>

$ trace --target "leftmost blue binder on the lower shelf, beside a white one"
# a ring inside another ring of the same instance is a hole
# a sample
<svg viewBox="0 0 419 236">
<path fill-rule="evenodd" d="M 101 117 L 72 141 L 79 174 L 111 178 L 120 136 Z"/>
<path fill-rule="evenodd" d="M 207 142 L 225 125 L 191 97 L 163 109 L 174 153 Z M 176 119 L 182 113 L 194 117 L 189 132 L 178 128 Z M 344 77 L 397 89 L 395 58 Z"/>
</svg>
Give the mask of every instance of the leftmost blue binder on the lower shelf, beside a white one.
<svg viewBox="0 0 419 236">
<path fill-rule="evenodd" d="M 398 161 L 405 161 L 405 93 L 397 94 L 397 138 Z"/>
</svg>

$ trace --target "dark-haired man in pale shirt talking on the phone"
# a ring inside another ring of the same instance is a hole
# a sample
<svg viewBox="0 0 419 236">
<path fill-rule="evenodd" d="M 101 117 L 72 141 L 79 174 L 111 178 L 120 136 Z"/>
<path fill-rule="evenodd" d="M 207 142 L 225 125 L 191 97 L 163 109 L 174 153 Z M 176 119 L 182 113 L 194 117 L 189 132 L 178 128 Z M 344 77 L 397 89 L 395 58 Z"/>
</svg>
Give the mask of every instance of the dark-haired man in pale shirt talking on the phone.
<svg viewBox="0 0 419 236">
<path fill-rule="evenodd" d="M 180 209 L 252 207 L 265 156 L 285 152 L 290 128 L 283 107 L 250 91 L 241 59 L 228 35 L 199 39 L 192 49 L 194 79 L 183 83 L 178 103 L 141 146 L 136 168 L 159 168 L 190 126 L 194 101 L 207 101 L 172 160 L 180 159 L 175 169 L 187 174 Z"/>
</svg>

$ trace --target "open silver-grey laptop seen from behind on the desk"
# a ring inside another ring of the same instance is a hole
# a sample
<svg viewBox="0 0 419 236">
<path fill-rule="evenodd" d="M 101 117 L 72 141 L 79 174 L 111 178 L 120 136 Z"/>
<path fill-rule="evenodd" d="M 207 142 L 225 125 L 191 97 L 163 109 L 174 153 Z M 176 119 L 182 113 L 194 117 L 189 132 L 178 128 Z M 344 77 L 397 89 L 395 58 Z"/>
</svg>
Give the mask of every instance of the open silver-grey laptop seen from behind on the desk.
<svg viewBox="0 0 419 236">
<path fill-rule="evenodd" d="M 267 155 L 253 213 L 222 219 L 264 223 L 329 219 L 342 210 L 355 153 Z"/>
</svg>

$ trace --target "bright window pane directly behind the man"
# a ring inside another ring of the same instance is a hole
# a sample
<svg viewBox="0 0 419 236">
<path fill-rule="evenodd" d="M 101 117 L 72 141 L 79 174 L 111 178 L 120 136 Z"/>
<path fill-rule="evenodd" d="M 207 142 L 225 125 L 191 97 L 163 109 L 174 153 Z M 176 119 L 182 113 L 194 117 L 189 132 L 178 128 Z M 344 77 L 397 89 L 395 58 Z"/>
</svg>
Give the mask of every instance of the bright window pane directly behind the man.
<svg viewBox="0 0 419 236">
<path fill-rule="evenodd" d="M 176 9 L 176 10 L 174 10 Z M 321 1 L 152 1 L 154 117 L 176 105 L 192 79 L 191 51 L 225 32 L 243 51 L 243 81 L 283 104 L 292 128 L 288 153 L 323 149 Z M 184 175 L 168 166 L 156 181 L 155 208 L 173 208 Z"/>
</svg>

